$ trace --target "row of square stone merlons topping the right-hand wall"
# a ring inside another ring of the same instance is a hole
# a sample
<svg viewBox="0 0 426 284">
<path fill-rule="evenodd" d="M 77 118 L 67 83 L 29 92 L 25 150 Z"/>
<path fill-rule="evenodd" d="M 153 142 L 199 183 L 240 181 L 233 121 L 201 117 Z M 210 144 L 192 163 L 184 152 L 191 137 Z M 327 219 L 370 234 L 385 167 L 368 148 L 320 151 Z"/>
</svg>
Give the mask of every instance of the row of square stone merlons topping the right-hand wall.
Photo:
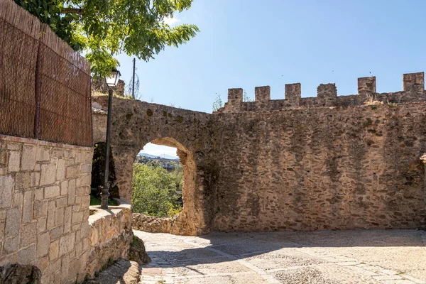
<svg viewBox="0 0 426 284">
<path fill-rule="evenodd" d="M 266 111 L 279 109 L 312 108 L 312 107 L 348 107 L 376 102 L 424 102 L 425 73 L 409 73 L 403 75 L 403 90 L 398 92 L 377 93 L 376 77 L 358 78 L 358 94 L 337 96 L 334 83 L 320 84 L 317 97 L 302 98 L 300 83 L 285 84 L 284 99 L 271 99 L 271 87 L 255 88 L 255 101 L 243 102 L 243 89 L 228 89 L 228 102 L 217 112 Z"/>
</svg>

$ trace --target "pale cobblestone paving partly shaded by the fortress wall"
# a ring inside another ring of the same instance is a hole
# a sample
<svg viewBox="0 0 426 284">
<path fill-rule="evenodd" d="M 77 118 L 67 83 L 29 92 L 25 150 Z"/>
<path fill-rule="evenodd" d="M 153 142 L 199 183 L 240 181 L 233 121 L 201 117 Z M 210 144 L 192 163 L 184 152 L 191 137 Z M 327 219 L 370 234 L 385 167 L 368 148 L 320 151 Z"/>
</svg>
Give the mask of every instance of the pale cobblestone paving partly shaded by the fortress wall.
<svg viewBox="0 0 426 284">
<path fill-rule="evenodd" d="M 134 233 L 153 259 L 139 284 L 426 283 L 425 231 Z"/>
</svg>

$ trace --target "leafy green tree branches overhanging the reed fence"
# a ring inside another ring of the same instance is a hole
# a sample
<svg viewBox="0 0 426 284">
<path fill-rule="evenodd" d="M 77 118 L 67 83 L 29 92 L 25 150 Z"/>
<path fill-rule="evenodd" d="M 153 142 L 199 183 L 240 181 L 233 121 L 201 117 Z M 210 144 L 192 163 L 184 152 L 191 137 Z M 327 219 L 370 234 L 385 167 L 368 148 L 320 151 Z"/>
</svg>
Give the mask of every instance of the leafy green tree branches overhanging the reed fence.
<svg viewBox="0 0 426 284">
<path fill-rule="evenodd" d="M 126 53 L 150 60 L 165 46 L 178 47 L 193 38 L 197 26 L 171 27 L 164 22 L 190 9 L 193 0 L 15 0 L 76 51 L 84 53 L 94 75 L 105 75 Z"/>
</svg>

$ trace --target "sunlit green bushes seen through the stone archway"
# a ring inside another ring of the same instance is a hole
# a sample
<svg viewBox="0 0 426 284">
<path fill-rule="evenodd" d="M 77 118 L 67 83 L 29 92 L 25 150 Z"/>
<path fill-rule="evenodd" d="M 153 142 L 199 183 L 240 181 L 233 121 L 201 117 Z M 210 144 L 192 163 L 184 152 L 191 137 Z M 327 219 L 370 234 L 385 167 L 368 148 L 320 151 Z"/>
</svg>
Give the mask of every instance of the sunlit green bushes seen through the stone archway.
<svg viewBox="0 0 426 284">
<path fill-rule="evenodd" d="M 171 173 L 158 163 L 133 164 L 132 211 L 173 217 L 182 211 L 182 166 Z"/>
</svg>

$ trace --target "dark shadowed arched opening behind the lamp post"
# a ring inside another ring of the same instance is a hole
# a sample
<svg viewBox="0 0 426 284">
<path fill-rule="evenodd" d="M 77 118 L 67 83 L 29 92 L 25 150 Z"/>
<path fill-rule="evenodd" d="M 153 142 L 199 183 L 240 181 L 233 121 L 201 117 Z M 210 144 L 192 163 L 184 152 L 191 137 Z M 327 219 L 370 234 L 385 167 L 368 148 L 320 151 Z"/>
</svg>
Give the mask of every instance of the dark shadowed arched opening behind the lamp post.
<svg viewBox="0 0 426 284">
<path fill-rule="evenodd" d="M 90 205 L 101 204 L 101 190 L 104 185 L 105 176 L 105 153 L 107 144 L 99 142 L 94 144 L 93 160 L 92 160 L 92 183 L 90 185 Z M 114 157 L 111 149 L 109 149 L 109 205 L 117 205 L 114 198 L 119 198 L 119 187 L 117 186 L 116 173 L 114 168 Z"/>
</svg>

